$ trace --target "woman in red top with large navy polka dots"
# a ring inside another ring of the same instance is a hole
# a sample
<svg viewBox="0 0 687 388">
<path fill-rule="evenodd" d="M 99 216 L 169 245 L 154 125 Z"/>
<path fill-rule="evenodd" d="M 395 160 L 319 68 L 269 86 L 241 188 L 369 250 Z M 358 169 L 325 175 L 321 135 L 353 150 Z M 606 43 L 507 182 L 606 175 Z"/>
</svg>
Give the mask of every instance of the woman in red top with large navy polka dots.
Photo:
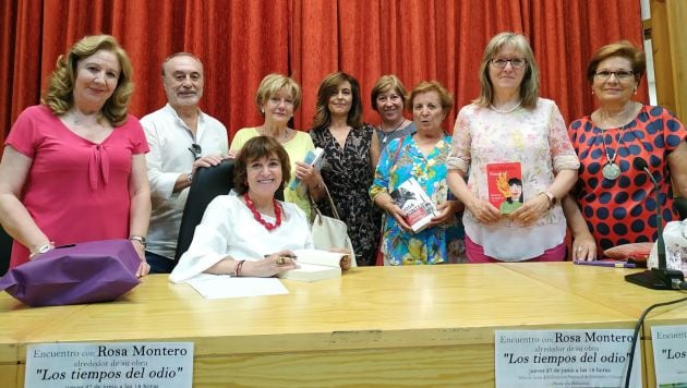
<svg viewBox="0 0 687 388">
<path fill-rule="evenodd" d="M 574 259 L 655 241 L 656 206 L 665 222 L 679 219 L 673 198 L 687 195 L 687 130 L 666 109 L 632 100 L 644 70 L 644 54 L 627 41 L 602 47 L 587 68 L 599 109 L 569 126 L 581 163 L 564 203 Z M 647 173 L 634 167 L 638 158 L 660 184 L 660 204 Z"/>
</svg>

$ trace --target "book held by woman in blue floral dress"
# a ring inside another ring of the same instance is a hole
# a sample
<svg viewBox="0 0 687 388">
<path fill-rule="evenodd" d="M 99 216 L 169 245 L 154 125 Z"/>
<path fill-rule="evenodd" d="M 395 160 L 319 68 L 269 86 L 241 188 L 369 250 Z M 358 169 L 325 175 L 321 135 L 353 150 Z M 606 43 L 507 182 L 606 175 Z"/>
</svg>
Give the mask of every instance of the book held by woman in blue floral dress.
<svg viewBox="0 0 687 388">
<path fill-rule="evenodd" d="M 435 217 L 436 206 L 412 177 L 396 187 L 390 195 L 396 205 L 406 211 L 406 222 L 415 233 L 426 228 Z"/>
</svg>

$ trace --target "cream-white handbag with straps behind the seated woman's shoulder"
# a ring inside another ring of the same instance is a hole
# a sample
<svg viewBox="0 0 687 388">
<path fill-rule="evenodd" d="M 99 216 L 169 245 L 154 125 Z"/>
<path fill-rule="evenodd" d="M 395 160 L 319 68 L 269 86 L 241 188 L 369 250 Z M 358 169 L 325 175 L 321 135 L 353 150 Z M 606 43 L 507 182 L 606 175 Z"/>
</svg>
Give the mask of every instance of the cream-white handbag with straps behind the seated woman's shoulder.
<svg viewBox="0 0 687 388">
<path fill-rule="evenodd" d="M 351 255 L 351 267 L 357 267 L 358 264 L 355 264 L 353 244 L 351 243 L 351 239 L 348 237 L 348 227 L 346 226 L 346 222 L 341 221 L 339 218 L 339 214 L 336 210 L 336 206 L 334 206 L 334 201 L 332 201 L 332 196 L 329 195 L 329 190 L 326 184 L 324 185 L 324 190 L 327 195 L 327 199 L 329 201 L 334 218 L 324 216 L 311 196 L 310 203 L 315 217 L 310 227 L 310 231 L 313 235 L 315 248 L 323 251 L 332 248 L 346 248 Z"/>
</svg>

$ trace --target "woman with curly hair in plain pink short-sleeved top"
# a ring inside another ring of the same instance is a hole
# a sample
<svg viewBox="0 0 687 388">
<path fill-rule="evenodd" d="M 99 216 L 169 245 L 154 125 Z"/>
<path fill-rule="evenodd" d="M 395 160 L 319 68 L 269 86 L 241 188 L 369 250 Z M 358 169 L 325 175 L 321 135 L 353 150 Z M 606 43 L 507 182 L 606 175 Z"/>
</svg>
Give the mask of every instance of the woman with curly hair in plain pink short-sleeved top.
<svg viewBox="0 0 687 388">
<path fill-rule="evenodd" d="M 43 105 L 12 126 L 0 162 L 11 268 L 56 245 L 129 238 L 142 260 L 137 276 L 148 272 L 148 145 L 126 113 L 132 72 L 113 37 L 84 37 L 58 59 Z"/>
</svg>

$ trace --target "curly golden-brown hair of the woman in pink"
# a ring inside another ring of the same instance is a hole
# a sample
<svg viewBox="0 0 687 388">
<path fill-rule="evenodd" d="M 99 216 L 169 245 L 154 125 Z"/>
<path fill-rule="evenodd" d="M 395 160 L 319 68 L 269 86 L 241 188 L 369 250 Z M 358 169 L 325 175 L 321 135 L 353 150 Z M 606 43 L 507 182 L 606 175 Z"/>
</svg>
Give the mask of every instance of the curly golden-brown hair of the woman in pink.
<svg viewBox="0 0 687 388">
<path fill-rule="evenodd" d="M 73 92 L 79 62 L 99 50 L 112 52 L 121 68 L 114 92 L 105 101 L 101 114 L 114 126 L 126 121 L 129 102 L 134 88 L 133 68 L 129 56 L 111 35 L 85 36 L 75 43 L 67 54 L 58 58 L 57 66 L 50 75 L 50 83 L 43 99 L 43 104 L 50 108 L 52 113 L 64 114 L 74 106 Z"/>
</svg>

